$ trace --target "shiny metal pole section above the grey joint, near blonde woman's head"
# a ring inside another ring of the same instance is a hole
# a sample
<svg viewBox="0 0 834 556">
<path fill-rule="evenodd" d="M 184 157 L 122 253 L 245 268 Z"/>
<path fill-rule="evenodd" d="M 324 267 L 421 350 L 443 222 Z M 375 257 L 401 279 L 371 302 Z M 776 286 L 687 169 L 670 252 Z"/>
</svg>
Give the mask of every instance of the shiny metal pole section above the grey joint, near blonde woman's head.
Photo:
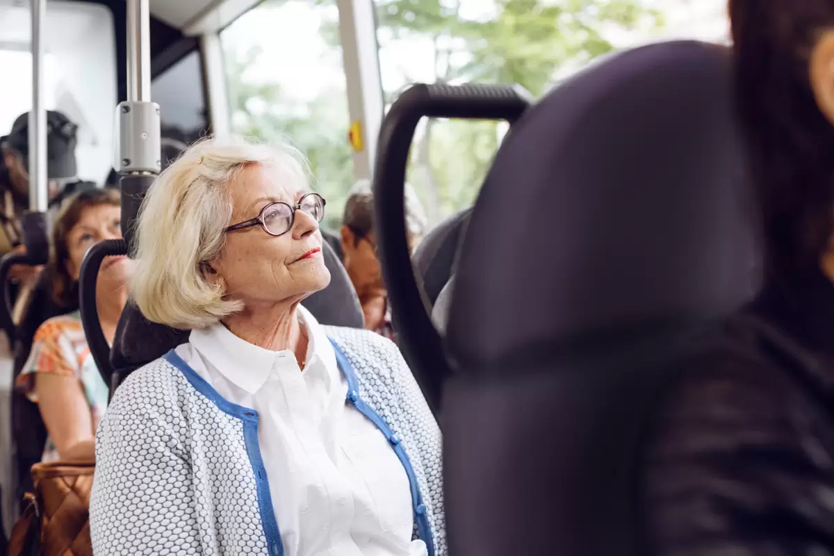
<svg viewBox="0 0 834 556">
<path fill-rule="evenodd" d="M 148 0 L 128 0 L 128 101 L 151 100 L 150 11 Z"/>
</svg>

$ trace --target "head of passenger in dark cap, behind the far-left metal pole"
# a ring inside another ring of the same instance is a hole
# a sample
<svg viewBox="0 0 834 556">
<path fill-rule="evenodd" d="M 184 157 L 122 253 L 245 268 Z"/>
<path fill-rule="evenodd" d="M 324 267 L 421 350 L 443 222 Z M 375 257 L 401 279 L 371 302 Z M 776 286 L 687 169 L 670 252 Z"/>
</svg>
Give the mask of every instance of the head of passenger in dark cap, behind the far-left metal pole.
<svg viewBox="0 0 834 556">
<path fill-rule="evenodd" d="M 78 174 L 75 159 L 78 126 L 63 113 L 47 112 L 47 177 L 51 193 L 58 193 L 60 183 Z M 18 200 L 28 199 L 29 183 L 29 113 L 14 121 L 12 131 L 3 138 L 3 163 L 8 168 L 13 193 Z"/>
</svg>

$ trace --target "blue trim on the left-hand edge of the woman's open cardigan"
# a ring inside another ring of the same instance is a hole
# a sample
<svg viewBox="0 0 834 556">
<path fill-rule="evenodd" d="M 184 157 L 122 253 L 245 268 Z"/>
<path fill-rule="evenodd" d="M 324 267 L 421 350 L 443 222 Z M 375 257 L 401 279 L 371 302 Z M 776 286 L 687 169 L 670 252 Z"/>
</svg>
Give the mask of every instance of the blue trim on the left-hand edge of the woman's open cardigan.
<svg viewBox="0 0 834 556">
<path fill-rule="evenodd" d="M 284 556 L 284 543 L 281 540 L 281 531 L 278 527 L 278 520 L 275 518 L 275 511 L 272 507 L 272 495 L 269 493 L 269 478 L 266 475 L 264 458 L 261 457 L 260 444 L 258 442 L 258 412 L 251 408 L 244 408 L 237 403 L 231 403 L 221 396 L 211 384 L 207 383 L 194 369 L 183 361 L 183 358 L 172 349 L 163 356 L 168 363 L 178 368 L 188 379 L 188 382 L 199 393 L 211 400 L 221 411 L 239 418 L 244 422 L 244 442 L 246 453 L 249 455 L 249 463 L 255 473 L 255 488 L 258 491 L 258 508 L 261 514 L 261 525 L 266 535 L 267 549 L 273 556 Z"/>
</svg>

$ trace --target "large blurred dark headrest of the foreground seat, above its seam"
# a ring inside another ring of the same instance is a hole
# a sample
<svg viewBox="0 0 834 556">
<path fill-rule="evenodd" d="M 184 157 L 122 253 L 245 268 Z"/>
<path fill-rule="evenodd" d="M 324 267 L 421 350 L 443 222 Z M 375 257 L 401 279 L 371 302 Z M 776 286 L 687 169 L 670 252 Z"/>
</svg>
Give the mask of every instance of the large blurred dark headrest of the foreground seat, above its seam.
<svg viewBox="0 0 834 556">
<path fill-rule="evenodd" d="M 450 321 L 457 357 L 487 363 L 749 297 L 730 78 L 726 48 L 656 44 L 525 113 L 471 217 Z"/>
</svg>

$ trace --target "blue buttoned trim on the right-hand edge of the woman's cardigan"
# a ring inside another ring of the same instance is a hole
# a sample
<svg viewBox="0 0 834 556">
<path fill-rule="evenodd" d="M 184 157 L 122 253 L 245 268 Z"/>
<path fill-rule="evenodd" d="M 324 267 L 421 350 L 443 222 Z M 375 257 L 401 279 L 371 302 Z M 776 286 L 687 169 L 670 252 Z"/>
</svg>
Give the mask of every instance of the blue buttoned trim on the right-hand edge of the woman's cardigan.
<svg viewBox="0 0 834 556">
<path fill-rule="evenodd" d="M 374 423 L 380 431 L 382 431 L 385 438 L 388 438 L 391 448 L 394 449 L 394 453 L 396 453 L 397 458 L 399 458 L 399 463 L 403 464 L 405 473 L 409 476 L 409 485 L 411 487 L 411 508 L 414 510 L 414 519 L 417 522 L 417 532 L 420 533 L 420 538 L 423 539 L 426 548 L 429 549 L 429 556 L 434 556 L 435 542 L 434 538 L 431 536 L 429 517 L 425 513 L 423 496 L 420 494 L 420 485 L 417 483 L 417 475 L 414 474 L 414 468 L 411 467 L 409 454 L 405 453 L 405 448 L 403 448 L 402 443 L 400 443 L 399 437 L 393 430 L 391 430 L 388 424 L 386 424 L 384 420 L 379 417 L 379 413 L 376 413 L 374 408 L 371 408 L 367 403 L 364 403 L 364 400 L 359 395 L 359 381 L 356 379 L 354 366 L 350 364 L 347 356 L 344 355 L 344 352 L 341 348 L 339 348 L 339 345 L 333 341 L 333 338 L 329 338 L 329 340 L 330 343 L 333 344 L 333 350 L 336 353 L 336 362 L 339 363 L 339 368 L 342 369 L 342 373 L 344 373 L 345 378 L 348 380 L 347 402 L 353 405 L 359 413 L 362 413 L 365 417 L 369 418 L 371 422 Z"/>
</svg>

